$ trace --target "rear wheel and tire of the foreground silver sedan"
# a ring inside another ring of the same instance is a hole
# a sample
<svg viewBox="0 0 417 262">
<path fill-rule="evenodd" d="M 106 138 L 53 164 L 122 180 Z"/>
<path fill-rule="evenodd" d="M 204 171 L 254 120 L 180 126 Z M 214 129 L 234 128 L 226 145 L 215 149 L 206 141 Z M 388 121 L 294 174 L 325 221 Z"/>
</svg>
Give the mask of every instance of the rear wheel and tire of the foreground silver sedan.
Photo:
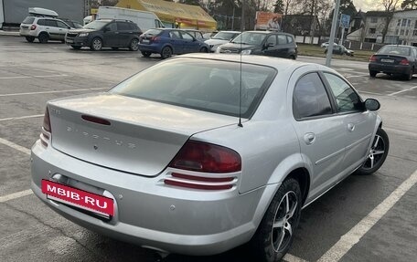
<svg viewBox="0 0 417 262">
<path fill-rule="evenodd" d="M 300 185 L 294 178 L 285 180 L 251 239 L 256 261 L 280 261 L 288 252 L 300 222 L 301 206 Z"/>
</svg>

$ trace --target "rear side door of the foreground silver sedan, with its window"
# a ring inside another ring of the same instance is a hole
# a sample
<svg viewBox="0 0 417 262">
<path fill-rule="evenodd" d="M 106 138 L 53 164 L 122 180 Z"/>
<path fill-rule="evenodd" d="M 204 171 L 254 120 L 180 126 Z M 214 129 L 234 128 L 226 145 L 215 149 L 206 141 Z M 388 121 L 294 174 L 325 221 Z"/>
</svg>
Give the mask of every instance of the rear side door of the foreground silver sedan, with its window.
<svg viewBox="0 0 417 262">
<path fill-rule="evenodd" d="M 315 66 L 297 69 L 289 89 L 291 119 L 311 175 L 308 197 L 315 199 L 337 183 L 342 171 L 346 144 L 343 117 L 336 114 L 331 94 Z"/>
</svg>

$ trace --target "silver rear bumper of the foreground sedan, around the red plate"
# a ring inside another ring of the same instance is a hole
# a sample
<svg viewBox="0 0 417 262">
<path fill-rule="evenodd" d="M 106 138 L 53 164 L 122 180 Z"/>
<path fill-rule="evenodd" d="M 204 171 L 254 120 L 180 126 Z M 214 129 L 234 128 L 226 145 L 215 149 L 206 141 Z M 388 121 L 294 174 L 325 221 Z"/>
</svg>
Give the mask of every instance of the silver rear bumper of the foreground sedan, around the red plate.
<svg viewBox="0 0 417 262">
<path fill-rule="evenodd" d="M 102 235 L 168 253 L 213 255 L 249 241 L 274 194 L 276 184 L 239 194 L 230 190 L 204 191 L 163 182 L 164 173 L 144 177 L 82 162 L 37 141 L 31 154 L 32 190 L 60 215 Z M 61 174 L 112 195 L 110 221 L 81 213 L 49 200 L 42 179 Z M 267 204 L 266 204 L 267 205 Z"/>
</svg>

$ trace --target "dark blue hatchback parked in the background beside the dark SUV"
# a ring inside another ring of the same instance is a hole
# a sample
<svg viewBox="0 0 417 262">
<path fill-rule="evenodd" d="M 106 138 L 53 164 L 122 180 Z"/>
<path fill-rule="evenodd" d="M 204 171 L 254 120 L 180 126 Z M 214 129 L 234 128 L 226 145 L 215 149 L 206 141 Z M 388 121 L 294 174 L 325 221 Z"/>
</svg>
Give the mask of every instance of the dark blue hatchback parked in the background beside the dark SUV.
<svg viewBox="0 0 417 262">
<path fill-rule="evenodd" d="M 139 37 L 139 50 L 145 58 L 156 53 L 165 59 L 172 55 L 207 53 L 209 46 L 181 29 L 155 28 L 147 30 Z"/>
</svg>

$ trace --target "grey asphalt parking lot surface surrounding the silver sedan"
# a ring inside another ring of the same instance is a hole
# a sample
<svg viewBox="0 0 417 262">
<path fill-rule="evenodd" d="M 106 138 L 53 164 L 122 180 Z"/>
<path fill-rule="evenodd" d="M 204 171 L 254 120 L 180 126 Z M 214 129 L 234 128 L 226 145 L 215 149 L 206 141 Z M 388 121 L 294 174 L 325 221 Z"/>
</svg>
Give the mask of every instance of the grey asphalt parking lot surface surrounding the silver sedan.
<svg viewBox="0 0 417 262">
<path fill-rule="evenodd" d="M 75 51 L 0 36 L 0 261 L 155 261 L 153 252 L 92 233 L 42 204 L 29 189 L 29 154 L 48 100 L 110 89 L 158 61 L 139 52 Z M 390 154 L 374 175 L 351 175 L 306 207 L 284 259 L 415 261 L 417 75 L 411 81 L 382 74 L 370 79 L 368 63 L 333 60 L 332 66 L 364 98 L 380 100 Z M 240 247 L 214 257 L 171 255 L 163 261 L 249 260 Z"/>
</svg>

